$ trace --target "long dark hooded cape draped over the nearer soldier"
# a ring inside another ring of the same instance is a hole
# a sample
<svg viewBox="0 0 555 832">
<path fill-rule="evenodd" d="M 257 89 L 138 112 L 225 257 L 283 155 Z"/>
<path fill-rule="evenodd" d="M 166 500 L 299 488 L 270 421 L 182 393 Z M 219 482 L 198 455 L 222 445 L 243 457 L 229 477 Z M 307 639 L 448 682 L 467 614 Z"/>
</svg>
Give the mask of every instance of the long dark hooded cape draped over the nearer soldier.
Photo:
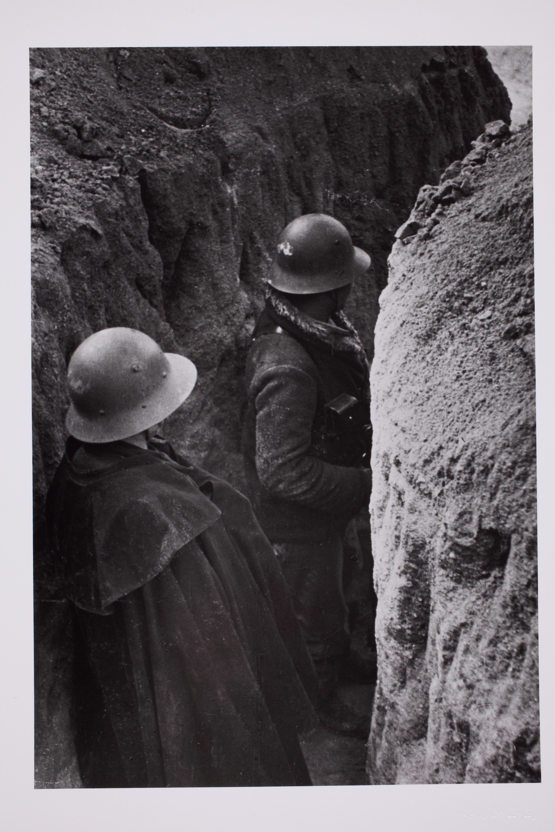
<svg viewBox="0 0 555 832">
<path fill-rule="evenodd" d="M 166 443 L 70 439 L 47 519 L 84 785 L 310 785 L 318 682 L 248 500 Z"/>
</svg>

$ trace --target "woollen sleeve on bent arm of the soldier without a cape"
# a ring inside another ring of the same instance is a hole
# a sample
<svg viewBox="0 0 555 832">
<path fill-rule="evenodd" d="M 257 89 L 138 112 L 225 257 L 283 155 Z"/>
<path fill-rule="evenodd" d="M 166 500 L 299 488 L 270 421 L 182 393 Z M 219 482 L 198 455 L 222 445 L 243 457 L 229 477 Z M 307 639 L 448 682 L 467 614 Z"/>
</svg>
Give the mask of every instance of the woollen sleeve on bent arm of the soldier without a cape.
<svg viewBox="0 0 555 832">
<path fill-rule="evenodd" d="M 260 483 L 275 497 L 354 517 L 367 505 L 372 474 L 310 456 L 316 384 L 290 365 L 265 369 L 256 379 L 256 455 Z"/>
</svg>

